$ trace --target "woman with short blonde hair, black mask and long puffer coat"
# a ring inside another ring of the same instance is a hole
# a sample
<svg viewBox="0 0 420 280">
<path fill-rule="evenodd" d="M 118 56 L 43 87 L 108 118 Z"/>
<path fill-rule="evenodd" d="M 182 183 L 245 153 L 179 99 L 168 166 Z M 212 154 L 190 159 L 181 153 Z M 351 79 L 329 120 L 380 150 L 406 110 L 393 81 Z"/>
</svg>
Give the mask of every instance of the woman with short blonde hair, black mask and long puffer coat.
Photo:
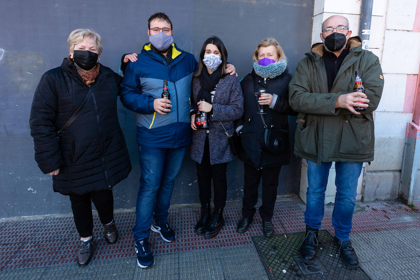
<svg viewBox="0 0 420 280">
<path fill-rule="evenodd" d="M 70 198 L 81 240 L 76 260 L 85 266 L 94 251 L 92 202 L 105 241 L 115 243 L 112 188 L 127 177 L 131 163 L 117 115 L 122 77 L 98 63 L 101 37 L 76 29 L 68 50 L 61 66 L 39 81 L 29 124 L 39 168 L 52 175 L 54 191 Z"/>
</svg>

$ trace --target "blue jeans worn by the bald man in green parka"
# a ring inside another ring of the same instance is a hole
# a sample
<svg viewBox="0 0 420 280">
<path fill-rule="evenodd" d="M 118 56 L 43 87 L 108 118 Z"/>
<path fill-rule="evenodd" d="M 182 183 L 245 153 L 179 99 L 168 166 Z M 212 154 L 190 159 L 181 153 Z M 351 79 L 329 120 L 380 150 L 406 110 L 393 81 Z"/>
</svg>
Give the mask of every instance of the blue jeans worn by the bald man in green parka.
<svg viewBox="0 0 420 280">
<path fill-rule="evenodd" d="M 324 217 L 324 199 L 328 174 L 332 162 L 308 162 L 308 189 L 306 192 L 305 224 L 320 228 Z M 336 162 L 336 200 L 333 210 L 335 236 L 342 241 L 349 240 L 352 217 L 356 205 L 357 180 L 362 172 L 363 162 Z"/>
</svg>

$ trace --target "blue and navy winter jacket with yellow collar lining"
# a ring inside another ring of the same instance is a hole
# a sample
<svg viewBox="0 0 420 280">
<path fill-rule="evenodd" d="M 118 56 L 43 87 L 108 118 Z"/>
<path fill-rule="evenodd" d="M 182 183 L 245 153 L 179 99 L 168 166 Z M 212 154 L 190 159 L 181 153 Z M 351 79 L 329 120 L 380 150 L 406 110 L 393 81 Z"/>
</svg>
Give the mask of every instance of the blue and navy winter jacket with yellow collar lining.
<svg viewBox="0 0 420 280">
<path fill-rule="evenodd" d="M 176 148 L 191 142 L 189 118 L 191 79 L 197 68 L 194 55 L 172 44 L 171 64 L 145 44 L 137 61 L 129 62 L 121 83 L 123 105 L 137 113 L 137 143 L 145 147 Z M 161 98 L 168 80 L 171 112 L 156 113 L 153 101 Z"/>
</svg>

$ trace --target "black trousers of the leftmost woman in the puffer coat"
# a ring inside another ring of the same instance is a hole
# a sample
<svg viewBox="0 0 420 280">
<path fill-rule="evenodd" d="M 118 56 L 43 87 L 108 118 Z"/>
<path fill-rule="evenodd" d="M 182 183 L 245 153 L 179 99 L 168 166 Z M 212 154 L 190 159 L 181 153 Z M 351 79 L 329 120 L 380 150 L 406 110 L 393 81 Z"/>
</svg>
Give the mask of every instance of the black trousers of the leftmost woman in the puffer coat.
<svg viewBox="0 0 420 280">
<path fill-rule="evenodd" d="M 94 191 L 89 194 L 69 195 L 74 223 L 80 237 L 89 237 L 93 233 L 92 202 L 98 211 L 102 224 L 112 222 L 114 218 L 114 196 L 112 190 Z"/>
</svg>

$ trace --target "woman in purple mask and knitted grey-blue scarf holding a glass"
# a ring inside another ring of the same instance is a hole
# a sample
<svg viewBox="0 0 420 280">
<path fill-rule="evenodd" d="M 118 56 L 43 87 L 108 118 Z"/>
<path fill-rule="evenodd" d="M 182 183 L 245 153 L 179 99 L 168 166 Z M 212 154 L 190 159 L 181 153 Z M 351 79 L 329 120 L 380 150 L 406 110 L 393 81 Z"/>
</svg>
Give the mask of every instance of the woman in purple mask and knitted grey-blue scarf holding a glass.
<svg viewBox="0 0 420 280">
<path fill-rule="evenodd" d="M 289 148 L 274 154 L 261 146 L 264 123 L 269 128 L 289 131 L 288 115 L 297 115 L 289 105 L 289 81 L 286 56 L 273 38 L 266 38 L 254 52 L 252 72 L 241 81 L 244 94 L 244 115 L 235 122 L 235 131 L 241 139 L 238 157 L 244 162 L 244 197 L 242 218 L 236 230 L 248 230 L 255 214 L 258 186 L 262 178 L 262 206 L 259 208 L 264 236 L 273 236 L 271 222 L 277 198 L 278 176 L 281 165 L 289 164 Z M 255 92 L 265 89 L 257 99 Z M 264 106 L 266 114 L 258 114 L 258 104 Z M 264 119 L 264 121 L 263 121 Z"/>
</svg>

